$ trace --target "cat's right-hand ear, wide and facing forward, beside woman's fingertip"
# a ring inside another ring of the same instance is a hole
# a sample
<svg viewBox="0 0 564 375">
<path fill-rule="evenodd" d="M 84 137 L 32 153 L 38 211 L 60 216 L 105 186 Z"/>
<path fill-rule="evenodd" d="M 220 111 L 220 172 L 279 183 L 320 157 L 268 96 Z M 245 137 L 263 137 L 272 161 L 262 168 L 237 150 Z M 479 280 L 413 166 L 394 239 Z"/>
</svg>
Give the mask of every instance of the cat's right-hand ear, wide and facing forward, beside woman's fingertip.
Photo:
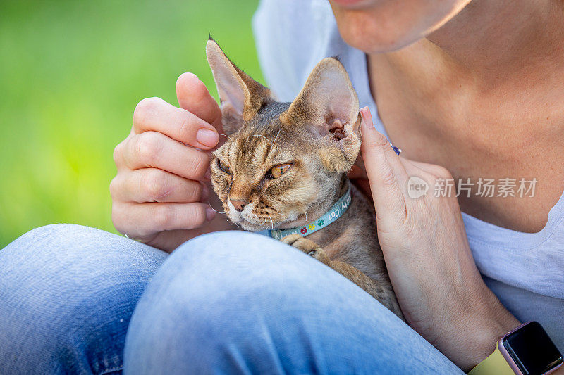
<svg viewBox="0 0 564 375">
<path fill-rule="evenodd" d="M 357 93 L 343 65 L 336 58 L 324 58 L 280 120 L 288 126 L 309 127 L 322 140 L 319 153 L 326 169 L 345 172 L 360 151 L 358 107 Z"/>
</svg>

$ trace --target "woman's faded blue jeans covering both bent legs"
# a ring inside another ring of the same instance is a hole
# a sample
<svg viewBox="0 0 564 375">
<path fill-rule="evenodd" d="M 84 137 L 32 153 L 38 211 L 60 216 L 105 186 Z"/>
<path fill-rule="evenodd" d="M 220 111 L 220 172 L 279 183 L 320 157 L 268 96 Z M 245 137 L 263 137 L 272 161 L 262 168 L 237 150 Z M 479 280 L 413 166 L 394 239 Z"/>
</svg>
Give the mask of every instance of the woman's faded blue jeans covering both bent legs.
<svg viewBox="0 0 564 375">
<path fill-rule="evenodd" d="M 166 255 L 55 224 L 0 250 L 0 374 L 122 371 L 462 374 L 355 284 L 266 236 L 207 234 Z"/>
</svg>

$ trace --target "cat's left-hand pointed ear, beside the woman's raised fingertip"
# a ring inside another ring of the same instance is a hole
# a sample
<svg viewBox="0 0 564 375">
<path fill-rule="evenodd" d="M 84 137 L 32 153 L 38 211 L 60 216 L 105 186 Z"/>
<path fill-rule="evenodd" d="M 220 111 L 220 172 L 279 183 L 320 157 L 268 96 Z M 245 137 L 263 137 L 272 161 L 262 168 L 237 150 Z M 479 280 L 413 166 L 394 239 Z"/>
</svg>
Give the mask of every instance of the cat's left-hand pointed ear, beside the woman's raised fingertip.
<svg viewBox="0 0 564 375">
<path fill-rule="evenodd" d="M 237 68 L 214 39 L 207 41 L 206 56 L 221 101 L 223 129 L 231 134 L 245 121 L 255 117 L 266 104 L 272 103 L 274 98 L 269 89 Z"/>
</svg>

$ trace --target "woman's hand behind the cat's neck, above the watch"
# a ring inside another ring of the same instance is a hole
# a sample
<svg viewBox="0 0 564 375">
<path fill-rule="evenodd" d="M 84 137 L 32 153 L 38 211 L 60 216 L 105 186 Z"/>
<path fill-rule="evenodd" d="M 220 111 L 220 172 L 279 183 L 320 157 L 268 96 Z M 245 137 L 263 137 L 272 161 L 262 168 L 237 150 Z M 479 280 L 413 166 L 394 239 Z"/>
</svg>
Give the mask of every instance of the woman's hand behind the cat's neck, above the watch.
<svg viewBox="0 0 564 375">
<path fill-rule="evenodd" d="M 520 323 L 482 281 L 455 197 L 434 197 L 438 165 L 400 158 L 362 108 L 362 157 L 376 209 L 378 239 L 407 322 L 463 370 L 494 351 Z M 429 191 L 407 194 L 417 176 Z"/>
</svg>

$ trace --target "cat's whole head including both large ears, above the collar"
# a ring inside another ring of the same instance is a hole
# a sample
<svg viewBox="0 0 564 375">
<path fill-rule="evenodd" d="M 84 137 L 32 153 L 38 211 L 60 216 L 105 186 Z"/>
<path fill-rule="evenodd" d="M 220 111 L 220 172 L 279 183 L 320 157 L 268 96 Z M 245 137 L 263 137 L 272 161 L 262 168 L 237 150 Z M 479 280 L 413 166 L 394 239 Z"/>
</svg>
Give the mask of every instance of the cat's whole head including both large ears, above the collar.
<svg viewBox="0 0 564 375">
<path fill-rule="evenodd" d="M 324 59 L 293 103 L 279 103 L 212 40 L 207 57 L 228 136 L 211 178 L 228 218 L 257 231 L 329 210 L 360 149 L 357 96 L 341 63 Z"/>
</svg>

